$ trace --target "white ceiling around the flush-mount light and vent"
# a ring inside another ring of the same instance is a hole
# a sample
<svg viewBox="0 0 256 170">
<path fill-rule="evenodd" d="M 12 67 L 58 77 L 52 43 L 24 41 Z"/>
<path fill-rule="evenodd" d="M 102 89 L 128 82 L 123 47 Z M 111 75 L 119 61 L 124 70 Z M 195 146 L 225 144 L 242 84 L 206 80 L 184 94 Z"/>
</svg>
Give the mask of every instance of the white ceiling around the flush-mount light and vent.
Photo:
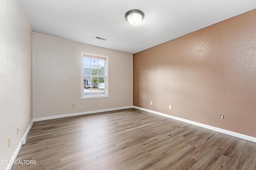
<svg viewBox="0 0 256 170">
<path fill-rule="evenodd" d="M 35 32 L 132 54 L 256 8 L 256 0 L 21 1 Z M 138 25 L 124 18 L 133 9 L 145 14 Z"/>
</svg>

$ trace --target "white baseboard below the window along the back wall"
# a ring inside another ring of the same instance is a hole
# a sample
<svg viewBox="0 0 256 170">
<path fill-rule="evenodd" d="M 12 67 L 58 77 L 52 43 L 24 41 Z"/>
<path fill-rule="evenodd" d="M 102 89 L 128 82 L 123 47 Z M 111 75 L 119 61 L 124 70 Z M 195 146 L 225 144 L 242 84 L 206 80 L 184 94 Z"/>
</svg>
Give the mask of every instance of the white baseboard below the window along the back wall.
<svg viewBox="0 0 256 170">
<path fill-rule="evenodd" d="M 116 107 L 116 108 L 111 108 L 111 109 L 102 109 L 102 110 L 94 110 L 94 111 L 85 111 L 85 112 L 80 112 L 80 113 L 70 113 L 70 114 L 66 114 L 66 115 L 57 115 L 57 116 L 49 116 L 49 117 L 39 117 L 39 118 L 37 117 L 37 118 L 34 118 L 33 121 L 58 119 L 58 118 L 63 118 L 63 117 L 87 115 L 87 114 L 92 114 L 92 113 L 100 113 L 100 112 L 105 112 L 105 111 L 113 111 L 113 110 L 120 110 L 120 109 L 129 109 L 129 108 L 133 108 L 133 106 Z"/>
</svg>

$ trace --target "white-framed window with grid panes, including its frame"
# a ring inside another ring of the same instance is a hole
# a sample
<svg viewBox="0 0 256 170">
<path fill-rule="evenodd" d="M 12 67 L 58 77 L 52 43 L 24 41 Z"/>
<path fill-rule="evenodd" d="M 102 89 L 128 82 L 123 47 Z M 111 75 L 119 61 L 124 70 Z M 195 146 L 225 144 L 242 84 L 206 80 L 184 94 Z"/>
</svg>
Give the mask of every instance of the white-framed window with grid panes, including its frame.
<svg viewBox="0 0 256 170">
<path fill-rule="evenodd" d="M 108 56 L 82 52 L 81 99 L 108 97 Z"/>
</svg>

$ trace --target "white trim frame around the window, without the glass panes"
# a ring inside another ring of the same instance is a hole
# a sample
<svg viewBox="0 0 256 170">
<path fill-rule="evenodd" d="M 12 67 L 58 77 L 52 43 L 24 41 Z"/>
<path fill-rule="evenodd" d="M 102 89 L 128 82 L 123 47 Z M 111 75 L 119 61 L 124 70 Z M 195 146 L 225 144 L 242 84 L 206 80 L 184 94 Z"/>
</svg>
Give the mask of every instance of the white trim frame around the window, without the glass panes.
<svg viewBox="0 0 256 170">
<path fill-rule="evenodd" d="M 94 58 L 98 58 L 98 59 L 106 58 L 105 94 L 88 95 L 88 96 L 84 97 L 84 70 L 83 70 L 83 65 L 84 65 L 83 61 L 84 61 L 84 59 L 83 59 L 83 57 L 94 57 Z M 108 98 L 108 95 L 109 95 L 109 91 L 108 91 L 108 86 L 109 86 L 109 82 L 108 82 L 108 56 L 81 52 L 81 75 L 80 75 L 80 79 L 81 79 L 81 84 L 80 84 L 81 85 L 81 92 L 80 92 L 81 99 Z"/>
</svg>

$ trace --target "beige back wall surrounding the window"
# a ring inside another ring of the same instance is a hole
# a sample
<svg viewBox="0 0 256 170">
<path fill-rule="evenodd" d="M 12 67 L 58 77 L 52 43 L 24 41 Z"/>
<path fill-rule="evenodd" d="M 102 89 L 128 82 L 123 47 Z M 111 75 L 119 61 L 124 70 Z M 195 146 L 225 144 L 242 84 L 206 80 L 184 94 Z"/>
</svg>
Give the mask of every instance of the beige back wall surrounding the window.
<svg viewBox="0 0 256 170">
<path fill-rule="evenodd" d="M 80 98 L 81 52 L 109 56 L 109 98 Z M 132 106 L 132 78 L 132 54 L 33 32 L 34 118 Z"/>
</svg>

